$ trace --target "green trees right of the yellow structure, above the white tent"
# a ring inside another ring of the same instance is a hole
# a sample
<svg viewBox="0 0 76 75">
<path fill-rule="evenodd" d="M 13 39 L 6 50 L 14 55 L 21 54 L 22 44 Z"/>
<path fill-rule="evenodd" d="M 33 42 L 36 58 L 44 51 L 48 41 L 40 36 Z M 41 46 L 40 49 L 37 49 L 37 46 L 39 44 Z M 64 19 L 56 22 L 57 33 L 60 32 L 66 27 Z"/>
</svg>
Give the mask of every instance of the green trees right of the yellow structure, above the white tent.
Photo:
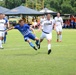
<svg viewBox="0 0 76 75">
<path fill-rule="evenodd" d="M 76 0 L 45 0 L 45 7 L 61 13 L 76 14 Z"/>
</svg>

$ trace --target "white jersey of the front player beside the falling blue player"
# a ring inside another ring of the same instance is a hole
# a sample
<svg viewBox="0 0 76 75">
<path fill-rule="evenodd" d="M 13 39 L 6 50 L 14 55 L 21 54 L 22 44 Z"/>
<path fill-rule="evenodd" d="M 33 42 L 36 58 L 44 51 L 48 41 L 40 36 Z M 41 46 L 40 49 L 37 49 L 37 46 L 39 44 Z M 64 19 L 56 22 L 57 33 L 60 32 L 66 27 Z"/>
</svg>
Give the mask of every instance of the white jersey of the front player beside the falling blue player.
<svg viewBox="0 0 76 75">
<path fill-rule="evenodd" d="M 46 32 L 46 33 L 50 33 L 52 32 L 52 29 L 53 29 L 53 20 L 45 20 L 43 23 L 42 23 L 42 27 L 43 27 L 43 32 Z"/>
</svg>

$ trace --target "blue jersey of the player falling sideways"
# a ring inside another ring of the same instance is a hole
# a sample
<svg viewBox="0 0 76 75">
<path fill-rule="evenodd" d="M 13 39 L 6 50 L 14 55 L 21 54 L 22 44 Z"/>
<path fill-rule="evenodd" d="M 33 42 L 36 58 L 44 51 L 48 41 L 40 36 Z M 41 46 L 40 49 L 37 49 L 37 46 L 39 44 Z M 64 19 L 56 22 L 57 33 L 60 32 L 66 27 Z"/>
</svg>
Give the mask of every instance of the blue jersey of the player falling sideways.
<svg viewBox="0 0 76 75">
<path fill-rule="evenodd" d="M 29 33 L 31 33 L 30 26 L 28 24 L 24 24 L 23 26 L 16 25 L 14 28 L 18 29 L 23 36 L 27 36 Z"/>
</svg>

